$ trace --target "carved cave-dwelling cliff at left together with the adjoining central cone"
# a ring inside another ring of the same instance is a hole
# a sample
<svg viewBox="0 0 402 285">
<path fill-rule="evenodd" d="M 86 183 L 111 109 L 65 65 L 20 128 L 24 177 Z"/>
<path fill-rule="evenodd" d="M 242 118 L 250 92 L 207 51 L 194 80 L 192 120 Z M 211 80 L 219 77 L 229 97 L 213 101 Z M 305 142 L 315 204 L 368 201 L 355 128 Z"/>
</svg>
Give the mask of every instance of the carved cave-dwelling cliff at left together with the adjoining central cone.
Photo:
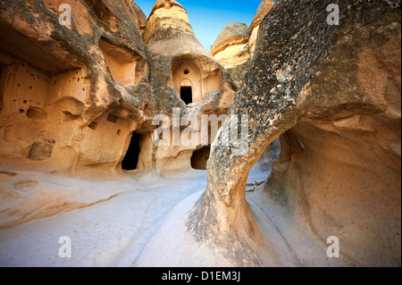
<svg viewBox="0 0 402 285">
<path fill-rule="evenodd" d="M 70 26 L 59 22 L 62 4 Z M 192 88 L 195 115 L 226 113 L 238 88 L 175 1 L 157 1 L 147 19 L 130 0 L 3 0 L 0 34 L 4 169 L 111 173 L 124 161 L 128 170 L 188 170 L 203 146 L 155 147 L 153 118 L 189 113 L 182 87 Z M 132 146 L 139 154 L 125 159 Z"/>
</svg>

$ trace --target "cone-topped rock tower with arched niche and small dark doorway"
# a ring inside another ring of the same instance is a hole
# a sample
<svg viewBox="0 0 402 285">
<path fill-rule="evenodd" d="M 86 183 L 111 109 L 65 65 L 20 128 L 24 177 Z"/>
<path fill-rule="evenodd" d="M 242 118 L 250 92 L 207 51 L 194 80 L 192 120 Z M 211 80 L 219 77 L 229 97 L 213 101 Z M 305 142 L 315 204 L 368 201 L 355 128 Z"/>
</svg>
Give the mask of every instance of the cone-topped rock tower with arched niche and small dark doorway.
<svg viewBox="0 0 402 285">
<path fill-rule="evenodd" d="M 147 117 L 151 119 L 145 124 L 148 130 L 155 130 L 151 122 L 159 113 L 168 115 L 172 126 L 173 108 L 179 111 L 180 120 L 191 115 L 199 123 L 201 114 L 220 116 L 228 112 L 239 86 L 199 44 L 183 6 L 176 1 L 157 1 L 147 20 L 144 41 L 153 90 L 147 105 Z M 180 126 L 180 130 L 189 123 Z M 198 125 L 197 128 L 201 130 Z M 207 147 L 201 141 L 191 146 L 173 146 L 172 137 L 171 132 L 169 146 L 153 146 L 154 150 L 147 153 L 147 164 L 152 162 L 160 173 L 191 169 L 194 152 Z M 146 140 L 152 145 L 151 136 Z"/>
</svg>

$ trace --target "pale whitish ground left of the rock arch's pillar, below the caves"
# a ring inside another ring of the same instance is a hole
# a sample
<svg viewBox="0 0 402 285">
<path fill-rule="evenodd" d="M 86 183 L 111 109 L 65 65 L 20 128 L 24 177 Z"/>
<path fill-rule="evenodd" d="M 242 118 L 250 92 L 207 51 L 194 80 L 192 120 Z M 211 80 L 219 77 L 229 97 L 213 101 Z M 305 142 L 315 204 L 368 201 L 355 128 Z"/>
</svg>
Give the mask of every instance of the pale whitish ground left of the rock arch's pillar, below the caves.
<svg viewBox="0 0 402 285">
<path fill-rule="evenodd" d="M 29 204 L 29 200 L 38 197 L 33 193 L 44 189 L 49 195 L 57 192 L 65 200 L 78 201 L 80 205 L 106 200 L 0 230 L 0 266 L 130 266 L 165 215 L 180 200 L 205 189 L 206 185 L 206 172 L 188 172 L 180 175 L 180 179 L 160 179 L 148 174 L 104 181 L 18 173 L 19 177 L 13 179 L 29 178 L 39 184 L 23 193 L 31 197 L 10 200 L 2 195 L 0 213 L 9 205 L 18 207 L 18 201 L 28 200 L 24 203 Z M 0 187 L 4 187 L 6 180 L 2 177 Z M 12 187 L 13 184 L 9 188 Z M 107 200 L 108 197 L 113 198 Z M 33 208 L 40 210 L 38 205 Z M 5 219 L 5 214 L 0 215 L 0 222 Z M 62 236 L 71 238 L 71 258 L 59 256 Z"/>
</svg>

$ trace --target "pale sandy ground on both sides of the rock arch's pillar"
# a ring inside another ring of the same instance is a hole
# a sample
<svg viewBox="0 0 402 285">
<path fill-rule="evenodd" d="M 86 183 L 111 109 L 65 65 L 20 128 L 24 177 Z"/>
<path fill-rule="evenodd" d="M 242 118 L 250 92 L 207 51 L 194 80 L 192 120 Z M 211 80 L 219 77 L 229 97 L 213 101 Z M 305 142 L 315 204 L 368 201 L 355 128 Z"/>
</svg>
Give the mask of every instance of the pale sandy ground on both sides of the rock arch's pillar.
<svg viewBox="0 0 402 285">
<path fill-rule="evenodd" d="M 15 173 L 3 173 L 0 177 L 0 224 L 5 225 L 0 230 L 0 266 L 138 265 L 135 263 L 138 256 L 155 232 L 156 239 L 158 235 L 163 239 L 164 233 L 158 231 L 161 225 L 169 229 L 172 219 L 176 219 L 175 213 L 194 203 L 206 186 L 206 171 L 190 171 L 165 179 L 154 174 L 127 174 L 115 180 L 88 180 L 44 172 Z M 268 174 L 255 167 L 248 181 L 266 180 Z M 14 186 L 29 180 L 38 184 L 26 183 L 28 186 L 22 189 Z M 48 206 L 42 205 L 44 197 L 51 197 Z M 328 261 L 325 247 L 309 239 L 303 230 L 295 231 L 286 215 L 281 217 L 280 210 L 258 188 L 247 192 L 247 200 L 256 222 L 285 265 L 294 264 L 295 260 L 304 265 L 343 264 Z M 53 214 L 54 207 L 64 213 L 38 218 Z M 27 219 L 31 221 L 25 222 Z M 19 225 L 13 226 L 13 222 Z M 169 234 L 172 236 L 172 232 Z M 71 258 L 59 256 L 62 247 L 59 239 L 63 236 L 71 239 Z M 160 250 L 163 248 L 148 256 L 155 261 L 148 260 L 147 265 L 157 265 L 158 257 L 153 255 Z M 163 265 L 230 265 L 214 257 L 205 248 L 198 250 L 197 258 L 191 258 L 193 262 L 183 264 L 179 258 Z"/>
</svg>

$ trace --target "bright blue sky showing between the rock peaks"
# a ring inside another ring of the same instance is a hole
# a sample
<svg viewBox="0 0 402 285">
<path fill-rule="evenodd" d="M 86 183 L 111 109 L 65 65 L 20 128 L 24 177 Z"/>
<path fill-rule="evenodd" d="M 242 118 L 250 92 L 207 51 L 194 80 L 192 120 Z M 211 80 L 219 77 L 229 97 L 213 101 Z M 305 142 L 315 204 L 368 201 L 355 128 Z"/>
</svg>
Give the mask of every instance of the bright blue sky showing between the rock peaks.
<svg viewBox="0 0 402 285">
<path fill-rule="evenodd" d="M 156 0 L 134 0 L 134 2 L 149 16 Z M 178 0 L 178 2 L 187 10 L 189 23 L 201 45 L 209 51 L 228 22 L 239 21 L 249 26 L 261 0 Z"/>
</svg>

